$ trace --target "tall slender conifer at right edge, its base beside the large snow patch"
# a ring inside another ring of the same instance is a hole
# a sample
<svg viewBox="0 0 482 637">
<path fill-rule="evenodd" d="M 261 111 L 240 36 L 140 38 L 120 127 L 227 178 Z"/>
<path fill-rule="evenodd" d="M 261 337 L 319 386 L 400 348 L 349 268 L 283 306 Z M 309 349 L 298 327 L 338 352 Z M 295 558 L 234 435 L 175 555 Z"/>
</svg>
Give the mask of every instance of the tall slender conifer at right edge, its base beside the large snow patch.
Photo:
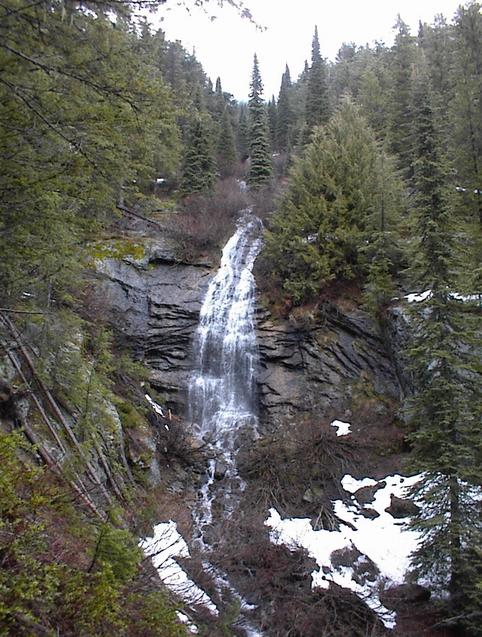
<svg viewBox="0 0 482 637">
<path fill-rule="evenodd" d="M 480 403 L 469 354 L 470 312 L 451 294 L 454 235 L 429 89 L 428 74 L 419 73 L 413 96 L 417 241 L 411 272 L 431 294 L 423 310 L 413 312 L 415 337 L 409 350 L 416 388 L 409 408 L 412 457 L 414 469 L 423 472 L 416 488 L 422 506 L 413 522 L 422 540 L 413 567 L 438 591 L 450 591 L 455 612 L 470 628 L 481 584 L 476 547 L 482 528 L 474 500 L 474 485 L 480 484 Z"/>
</svg>

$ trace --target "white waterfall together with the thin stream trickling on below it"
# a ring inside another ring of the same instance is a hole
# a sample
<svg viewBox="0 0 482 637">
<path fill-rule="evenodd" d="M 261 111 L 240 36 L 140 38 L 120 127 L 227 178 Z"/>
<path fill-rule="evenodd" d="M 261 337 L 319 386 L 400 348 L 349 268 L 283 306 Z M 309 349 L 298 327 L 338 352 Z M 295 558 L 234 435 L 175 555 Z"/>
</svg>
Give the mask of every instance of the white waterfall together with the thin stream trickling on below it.
<svg viewBox="0 0 482 637">
<path fill-rule="evenodd" d="M 223 250 L 220 268 L 204 299 L 196 333 L 197 365 L 189 386 L 189 409 L 195 432 L 212 449 L 213 458 L 194 512 L 196 543 L 209 548 L 205 531 L 213 521 L 213 505 L 222 517 L 234 510 L 244 483 L 236 469 L 240 437 L 257 435 L 257 347 L 253 323 L 254 261 L 262 246 L 262 223 L 250 211 Z M 222 480 L 215 480 L 222 477 Z M 221 587 L 248 605 L 216 570 Z M 249 622 L 245 633 L 261 635 Z"/>
</svg>

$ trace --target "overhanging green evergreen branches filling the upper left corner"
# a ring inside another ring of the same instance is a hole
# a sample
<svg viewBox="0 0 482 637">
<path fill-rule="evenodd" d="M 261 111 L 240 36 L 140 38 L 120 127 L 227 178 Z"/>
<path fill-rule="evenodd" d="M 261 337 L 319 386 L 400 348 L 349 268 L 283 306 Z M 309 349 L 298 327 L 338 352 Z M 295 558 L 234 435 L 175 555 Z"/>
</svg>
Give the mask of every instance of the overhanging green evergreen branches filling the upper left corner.
<svg viewBox="0 0 482 637">
<path fill-rule="evenodd" d="M 47 2 L 8 0 L 0 26 L 2 297 L 61 300 L 86 235 L 175 169 L 171 97 L 129 23 Z M 125 69 L 129 68 L 129 73 Z"/>
</svg>

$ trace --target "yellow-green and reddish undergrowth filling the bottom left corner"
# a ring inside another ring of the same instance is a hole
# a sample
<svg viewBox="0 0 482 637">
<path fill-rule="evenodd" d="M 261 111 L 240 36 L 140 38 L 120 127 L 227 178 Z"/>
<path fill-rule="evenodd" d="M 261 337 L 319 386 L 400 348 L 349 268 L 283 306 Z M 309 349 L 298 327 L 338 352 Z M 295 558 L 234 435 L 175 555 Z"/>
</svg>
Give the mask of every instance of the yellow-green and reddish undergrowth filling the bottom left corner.
<svg viewBox="0 0 482 637">
<path fill-rule="evenodd" d="M 32 452 L 20 432 L 0 434 L 0 635 L 185 635 L 165 593 L 139 589 L 136 538 L 75 515 L 47 472 L 20 459 Z M 70 557 L 58 553 L 69 543 Z"/>
</svg>

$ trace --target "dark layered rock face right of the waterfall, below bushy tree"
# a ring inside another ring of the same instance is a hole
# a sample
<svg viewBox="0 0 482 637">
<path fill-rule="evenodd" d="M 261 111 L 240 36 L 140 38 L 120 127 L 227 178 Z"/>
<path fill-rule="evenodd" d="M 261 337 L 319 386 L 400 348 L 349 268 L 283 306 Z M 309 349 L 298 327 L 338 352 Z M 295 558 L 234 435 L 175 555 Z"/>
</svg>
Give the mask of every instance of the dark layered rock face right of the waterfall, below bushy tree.
<svg viewBox="0 0 482 637">
<path fill-rule="evenodd" d="M 358 310 L 325 305 L 311 324 L 274 322 L 260 312 L 260 404 L 265 421 L 343 413 L 354 383 L 397 399 L 395 369 L 376 324 Z"/>
</svg>

